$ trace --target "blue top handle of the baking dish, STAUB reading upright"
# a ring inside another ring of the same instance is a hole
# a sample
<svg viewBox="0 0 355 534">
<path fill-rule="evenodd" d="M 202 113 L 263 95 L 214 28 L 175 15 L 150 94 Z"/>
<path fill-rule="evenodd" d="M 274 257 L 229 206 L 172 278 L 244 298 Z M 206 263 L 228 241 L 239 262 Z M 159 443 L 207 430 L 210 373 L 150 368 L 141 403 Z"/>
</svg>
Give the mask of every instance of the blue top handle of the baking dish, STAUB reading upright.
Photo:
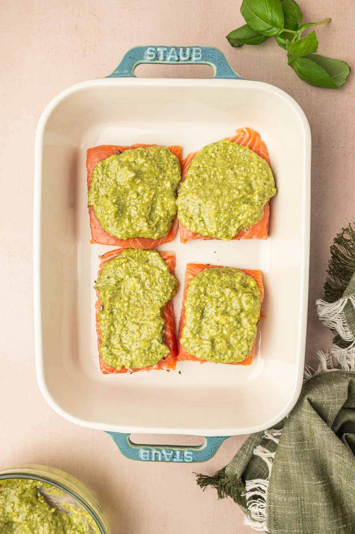
<svg viewBox="0 0 355 534">
<path fill-rule="evenodd" d="M 141 63 L 164 65 L 210 65 L 213 78 L 242 80 L 228 63 L 224 53 L 214 46 L 135 46 L 121 59 L 107 78 L 135 77 L 135 68 Z"/>
</svg>

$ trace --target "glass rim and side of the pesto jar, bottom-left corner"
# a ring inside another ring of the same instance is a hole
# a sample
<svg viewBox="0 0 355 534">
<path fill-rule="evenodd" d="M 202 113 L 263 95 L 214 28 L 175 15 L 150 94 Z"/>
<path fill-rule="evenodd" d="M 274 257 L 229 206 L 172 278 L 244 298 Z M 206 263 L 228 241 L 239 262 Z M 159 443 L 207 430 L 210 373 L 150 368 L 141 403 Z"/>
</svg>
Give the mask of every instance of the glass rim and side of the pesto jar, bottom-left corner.
<svg viewBox="0 0 355 534">
<path fill-rule="evenodd" d="M 7 469 L 0 469 L 0 480 L 7 478 L 30 478 L 46 484 L 51 484 L 60 490 L 60 503 L 65 506 L 75 506 L 88 512 L 97 524 L 99 532 L 111 534 L 107 517 L 93 493 L 72 475 L 54 467 L 27 464 Z M 57 498 L 59 496 L 57 495 Z M 92 528 L 88 525 L 88 534 Z"/>
</svg>

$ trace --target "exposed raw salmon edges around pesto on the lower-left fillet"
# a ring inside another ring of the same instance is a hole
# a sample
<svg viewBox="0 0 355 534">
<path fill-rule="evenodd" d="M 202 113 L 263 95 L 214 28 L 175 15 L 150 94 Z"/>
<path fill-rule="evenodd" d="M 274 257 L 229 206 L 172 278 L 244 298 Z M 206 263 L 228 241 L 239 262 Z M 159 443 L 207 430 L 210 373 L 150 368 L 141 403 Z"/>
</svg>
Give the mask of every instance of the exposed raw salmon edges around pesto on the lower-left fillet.
<svg viewBox="0 0 355 534">
<path fill-rule="evenodd" d="M 122 252 L 123 252 L 123 248 L 118 248 L 116 250 L 110 250 L 109 252 L 106 252 L 106 254 L 104 254 L 101 257 L 98 274 L 100 274 L 106 262 L 108 262 L 109 260 L 112 260 L 112 258 L 121 254 Z M 175 254 L 173 252 L 168 252 L 165 250 L 163 250 L 162 252 L 159 252 L 159 254 L 163 258 L 164 262 L 168 265 L 168 268 L 171 274 L 174 274 L 175 266 L 176 266 Z M 174 317 L 171 300 L 165 306 L 163 314 L 162 314 L 163 319 L 165 320 L 165 330 L 164 330 L 165 344 L 168 345 L 168 348 L 170 349 L 168 356 L 166 356 L 165 359 L 160 360 L 160 362 L 158 362 L 157 364 L 151 365 L 149 367 L 144 367 L 143 369 L 126 369 L 125 367 L 122 367 L 121 369 L 116 369 L 116 367 L 111 367 L 110 365 L 106 365 L 105 360 L 101 358 L 101 354 L 100 354 L 101 331 L 100 331 L 100 325 L 99 325 L 99 313 L 98 312 L 100 311 L 101 302 L 100 302 L 99 293 L 100 293 L 99 291 L 96 292 L 97 301 L 95 304 L 95 309 L 96 309 L 97 343 L 98 343 L 98 348 L 99 348 L 99 362 L 100 362 L 101 373 L 102 374 L 136 373 L 137 371 L 151 371 L 152 369 L 154 370 L 155 369 L 158 369 L 158 370 L 159 369 L 163 369 L 163 370 L 175 369 L 176 356 L 177 356 L 177 343 L 176 343 L 176 336 L 175 336 L 175 317 Z"/>
</svg>

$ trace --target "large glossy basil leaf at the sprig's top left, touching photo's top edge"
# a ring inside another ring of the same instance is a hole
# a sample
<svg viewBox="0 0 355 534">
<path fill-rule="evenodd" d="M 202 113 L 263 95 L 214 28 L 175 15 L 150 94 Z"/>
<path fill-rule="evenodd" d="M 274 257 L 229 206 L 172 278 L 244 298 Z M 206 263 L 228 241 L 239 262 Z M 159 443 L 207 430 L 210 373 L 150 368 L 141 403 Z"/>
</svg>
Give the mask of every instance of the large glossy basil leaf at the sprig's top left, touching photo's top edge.
<svg viewBox="0 0 355 534">
<path fill-rule="evenodd" d="M 280 0 L 243 0 L 240 12 L 255 32 L 268 37 L 282 32 L 284 17 Z"/>
</svg>

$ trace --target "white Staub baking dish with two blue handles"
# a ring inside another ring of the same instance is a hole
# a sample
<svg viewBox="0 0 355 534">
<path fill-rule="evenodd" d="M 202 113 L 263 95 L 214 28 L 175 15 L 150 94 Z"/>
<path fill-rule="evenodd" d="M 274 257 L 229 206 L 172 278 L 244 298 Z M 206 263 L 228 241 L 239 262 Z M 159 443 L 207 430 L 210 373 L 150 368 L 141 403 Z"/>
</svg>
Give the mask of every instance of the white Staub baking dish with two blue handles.
<svg viewBox="0 0 355 534">
<path fill-rule="evenodd" d="M 145 79 L 133 74 L 141 62 L 184 61 L 212 65 L 215 77 Z M 113 247 L 90 245 L 86 149 L 137 142 L 180 144 L 186 155 L 244 126 L 261 133 L 277 182 L 269 239 L 181 245 L 177 235 L 161 249 L 176 253 L 177 324 L 186 263 L 263 271 L 266 317 L 259 322 L 253 364 L 183 362 L 170 373 L 101 375 L 93 284 L 99 255 Z M 154 450 L 152 458 L 149 447 L 132 452 L 133 432 L 232 436 L 281 420 L 294 406 L 303 376 L 310 162 L 311 135 L 301 107 L 273 85 L 242 80 L 217 49 L 137 47 L 111 76 L 59 93 L 40 117 L 35 143 L 36 368 L 50 406 L 78 425 L 114 433 L 121 450 L 139 459 L 166 460 Z M 179 457 L 183 447 L 170 449 L 175 461 L 201 461 L 222 439 L 207 439 L 196 451 L 189 447 L 193 453 L 184 451 L 181 460 L 176 454 Z"/>
</svg>

